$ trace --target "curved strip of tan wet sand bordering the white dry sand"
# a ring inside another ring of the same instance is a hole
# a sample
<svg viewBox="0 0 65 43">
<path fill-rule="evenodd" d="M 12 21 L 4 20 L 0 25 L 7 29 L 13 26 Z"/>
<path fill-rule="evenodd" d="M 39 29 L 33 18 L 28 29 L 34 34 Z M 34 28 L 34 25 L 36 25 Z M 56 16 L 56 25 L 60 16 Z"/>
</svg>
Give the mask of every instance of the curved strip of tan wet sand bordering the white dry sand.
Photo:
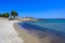
<svg viewBox="0 0 65 43">
<path fill-rule="evenodd" d="M 13 26 L 14 29 L 18 32 L 18 37 L 24 40 L 24 43 L 41 43 L 37 38 L 29 34 L 26 30 L 18 28 L 17 23 L 15 23 Z"/>
</svg>

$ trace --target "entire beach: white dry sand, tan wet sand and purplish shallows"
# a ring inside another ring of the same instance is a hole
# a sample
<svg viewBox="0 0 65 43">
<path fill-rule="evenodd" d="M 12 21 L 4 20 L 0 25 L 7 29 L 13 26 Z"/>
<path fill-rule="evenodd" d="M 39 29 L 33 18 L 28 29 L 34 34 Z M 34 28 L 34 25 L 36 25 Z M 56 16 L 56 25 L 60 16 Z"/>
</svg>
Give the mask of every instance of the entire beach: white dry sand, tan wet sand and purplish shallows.
<svg viewBox="0 0 65 43">
<path fill-rule="evenodd" d="M 0 19 L 0 43 L 65 43 L 46 32 L 32 30 L 30 33 L 18 27 L 18 20 Z M 38 33 L 38 34 L 37 34 Z"/>
</svg>

